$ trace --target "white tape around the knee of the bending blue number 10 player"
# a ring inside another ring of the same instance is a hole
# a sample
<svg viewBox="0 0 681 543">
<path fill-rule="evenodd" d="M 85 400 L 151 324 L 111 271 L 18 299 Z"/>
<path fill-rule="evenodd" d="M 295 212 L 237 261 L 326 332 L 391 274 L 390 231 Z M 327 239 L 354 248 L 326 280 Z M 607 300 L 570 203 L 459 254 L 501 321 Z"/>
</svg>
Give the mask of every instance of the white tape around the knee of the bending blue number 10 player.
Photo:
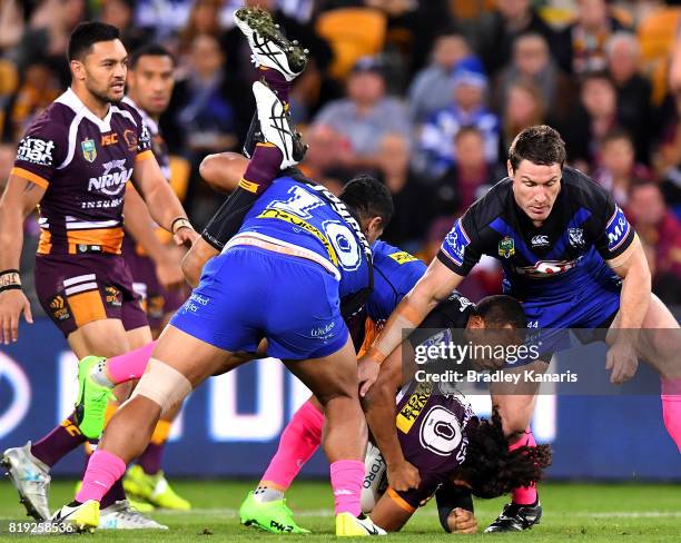
<svg viewBox="0 0 681 543">
<path fill-rule="evenodd" d="M 182 402 L 191 392 L 191 383 L 174 367 L 157 358 L 149 365 L 135 387 L 131 398 L 145 396 L 160 405 L 161 415 Z"/>
</svg>

